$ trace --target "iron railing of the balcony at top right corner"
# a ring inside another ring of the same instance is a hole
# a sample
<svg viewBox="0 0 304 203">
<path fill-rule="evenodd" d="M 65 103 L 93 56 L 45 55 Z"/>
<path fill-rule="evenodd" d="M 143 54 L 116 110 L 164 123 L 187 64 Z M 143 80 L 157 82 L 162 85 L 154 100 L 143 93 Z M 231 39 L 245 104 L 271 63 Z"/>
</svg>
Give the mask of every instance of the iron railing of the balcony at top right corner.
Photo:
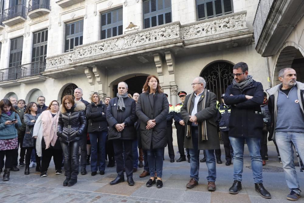
<svg viewBox="0 0 304 203">
<path fill-rule="evenodd" d="M 274 3 L 275 0 L 260 0 L 259 4 L 257 5 L 257 12 L 255 13 L 253 21 L 254 40 L 256 45 L 261 36 L 268 16 L 273 9 Z"/>
</svg>

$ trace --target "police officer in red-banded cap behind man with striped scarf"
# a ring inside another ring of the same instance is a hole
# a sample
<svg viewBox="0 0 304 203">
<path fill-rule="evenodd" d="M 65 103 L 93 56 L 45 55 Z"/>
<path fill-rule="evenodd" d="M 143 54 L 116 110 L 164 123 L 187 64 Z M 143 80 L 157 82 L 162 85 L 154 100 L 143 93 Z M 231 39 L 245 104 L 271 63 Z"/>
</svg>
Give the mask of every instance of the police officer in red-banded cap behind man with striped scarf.
<svg viewBox="0 0 304 203">
<path fill-rule="evenodd" d="M 185 121 L 181 117 L 181 107 L 184 104 L 185 98 L 187 93 L 184 91 L 180 91 L 177 93 L 181 103 L 178 103 L 174 107 L 175 115 L 174 115 L 174 124 L 176 127 L 176 135 L 177 135 L 177 144 L 178 144 L 178 151 L 181 155 L 176 162 L 186 161 L 185 156 L 185 149 L 184 149 L 184 138 L 185 138 Z M 190 161 L 190 154 L 188 153 L 188 162 Z"/>
</svg>

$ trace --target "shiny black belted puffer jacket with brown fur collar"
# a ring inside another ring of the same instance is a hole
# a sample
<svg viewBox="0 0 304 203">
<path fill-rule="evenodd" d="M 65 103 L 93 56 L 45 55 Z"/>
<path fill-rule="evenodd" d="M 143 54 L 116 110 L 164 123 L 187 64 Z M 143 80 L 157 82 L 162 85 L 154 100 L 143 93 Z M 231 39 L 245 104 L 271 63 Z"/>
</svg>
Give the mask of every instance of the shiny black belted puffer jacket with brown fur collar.
<svg viewBox="0 0 304 203">
<path fill-rule="evenodd" d="M 74 110 L 67 112 L 60 106 L 57 136 L 64 143 L 80 140 L 80 135 L 86 130 L 85 104 L 75 101 Z"/>
</svg>

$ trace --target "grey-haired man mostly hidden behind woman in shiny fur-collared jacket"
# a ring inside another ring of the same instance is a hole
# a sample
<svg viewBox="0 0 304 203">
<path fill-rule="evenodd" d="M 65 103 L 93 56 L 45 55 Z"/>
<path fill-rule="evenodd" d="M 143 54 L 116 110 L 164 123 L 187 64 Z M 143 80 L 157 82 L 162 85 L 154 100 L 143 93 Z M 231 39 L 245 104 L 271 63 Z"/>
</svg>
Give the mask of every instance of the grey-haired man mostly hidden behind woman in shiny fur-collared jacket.
<svg viewBox="0 0 304 203">
<path fill-rule="evenodd" d="M 87 107 L 90 103 L 88 103 L 86 100 L 82 99 L 83 96 L 83 91 L 81 88 L 76 88 L 74 89 L 74 97 L 75 97 L 75 101 L 81 101 L 82 103 L 85 104 L 85 107 Z M 87 108 L 85 108 L 85 111 L 87 110 Z M 85 129 L 88 126 L 86 126 Z M 87 174 L 87 170 L 86 170 L 86 166 L 87 166 L 87 130 L 85 130 L 82 135 L 80 136 L 80 166 L 81 166 L 81 175 L 85 175 Z"/>
</svg>

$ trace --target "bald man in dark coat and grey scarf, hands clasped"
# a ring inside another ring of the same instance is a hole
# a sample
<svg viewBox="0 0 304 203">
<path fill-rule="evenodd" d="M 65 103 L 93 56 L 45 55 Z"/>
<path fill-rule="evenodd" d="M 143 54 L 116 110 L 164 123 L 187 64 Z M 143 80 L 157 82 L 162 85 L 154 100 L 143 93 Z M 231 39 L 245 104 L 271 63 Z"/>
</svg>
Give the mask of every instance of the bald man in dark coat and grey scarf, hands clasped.
<svg viewBox="0 0 304 203">
<path fill-rule="evenodd" d="M 137 121 L 135 113 L 136 102 L 128 97 L 128 85 L 118 83 L 117 97 L 110 100 L 107 108 L 109 124 L 109 140 L 113 140 L 117 177 L 110 182 L 115 185 L 124 182 L 123 169 L 125 166 L 127 182 L 134 185 L 132 142 L 136 138 L 134 123 Z M 123 156 L 123 148 L 125 149 Z"/>
</svg>

